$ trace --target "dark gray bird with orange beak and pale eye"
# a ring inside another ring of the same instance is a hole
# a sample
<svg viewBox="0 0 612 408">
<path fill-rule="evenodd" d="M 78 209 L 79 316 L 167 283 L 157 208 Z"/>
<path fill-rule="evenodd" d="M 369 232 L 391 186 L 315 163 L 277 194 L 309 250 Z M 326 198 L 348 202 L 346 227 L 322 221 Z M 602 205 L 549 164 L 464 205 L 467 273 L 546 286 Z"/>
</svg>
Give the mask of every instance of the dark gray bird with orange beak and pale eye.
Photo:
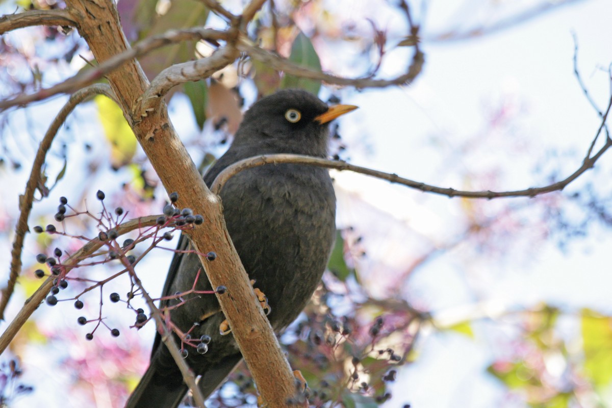
<svg viewBox="0 0 612 408">
<path fill-rule="evenodd" d="M 227 166 L 256 155 L 291 153 L 324 158 L 328 123 L 355 108 L 328 107 L 297 89 L 264 97 L 245 113 L 230 149 L 209 169 L 204 182 L 210 186 Z M 266 295 L 271 306 L 268 319 L 278 332 L 302 311 L 326 268 L 335 237 L 332 180 L 324 168 L 266 165 L 234 176 L 220 196 L 234 247 L 248 275 L 256 280 L 255 286 Z M 188 237 L 181 236 L 178 250 L 190 248 Z M 163 295 L 190 289 L 201 267 L 195 254 L 176 253 Z M 211 290 L 206 276 L 201 275 L 197 289 Z M 201 376 L 198 384 L 207 397 L 242 359 L 233 336 L 219 333 L 225 316 L 214 295 L 201 295 L 174 309 L 171 319 L 183 332 L 196 324 L 192 338 L 211 337 L 205 354 L 185 347 L 187 363 Z M 174 408 L 186 392 L 187 385 L 158 334 L 151 364 L 126 408 Z"/>
</svg>

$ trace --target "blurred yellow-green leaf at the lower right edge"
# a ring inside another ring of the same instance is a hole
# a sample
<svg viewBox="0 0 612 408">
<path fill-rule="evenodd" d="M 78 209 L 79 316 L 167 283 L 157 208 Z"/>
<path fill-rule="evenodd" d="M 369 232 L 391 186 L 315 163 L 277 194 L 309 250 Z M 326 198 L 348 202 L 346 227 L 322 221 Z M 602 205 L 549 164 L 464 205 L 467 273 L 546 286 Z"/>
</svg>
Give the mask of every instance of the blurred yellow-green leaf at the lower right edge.
<svg viewBox="0 0 612 408">
<path fill-rule="evenodd" d="M 595 387 L 612 380 L 612 318 L 584 309 L 581 317 L 584 371 Z"/>
</svg>

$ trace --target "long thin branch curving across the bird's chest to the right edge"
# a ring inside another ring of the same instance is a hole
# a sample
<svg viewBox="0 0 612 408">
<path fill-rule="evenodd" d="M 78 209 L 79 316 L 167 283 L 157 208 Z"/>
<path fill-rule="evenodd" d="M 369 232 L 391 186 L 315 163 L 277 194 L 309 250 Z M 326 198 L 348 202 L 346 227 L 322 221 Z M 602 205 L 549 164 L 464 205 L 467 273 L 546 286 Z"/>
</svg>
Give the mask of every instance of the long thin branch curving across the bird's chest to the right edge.
<svg viewBox="0 0 612 408">
<path fill-rule="evenodd" d="M 608 109 L 605 112 L 603 117 L 602 124 L 597 131 L 597 135 L 602 131 L 602 128 L 605 124 L 608 113 L 610 112 L 610 106 L 612 106 L 612 98 L 610 99 L 610 103 L 608 103 Z M 597 136 L 595 136 L 597 138 Z M 392 183 L 398 183 L 406 185 L 407 187 L 415 188 L 416 190 L 424 191 L 426 193 L 435 193 L 439 195 L 449 196 L 449 197 L 466 197 L 466 198 L 500 198 L 500 197 L 534 197 L 544 193 L 550 193 L 552 191 L 561 191 L 568 184 L 573 182 L 573 180 L 577 179 L 581 174 L 586 172 L 588 169 L 591 169 L 595 165 L 595 161 L 597 161 L 603 153 L 608 150 L 608 148 L 612 146 L 612 139 L 606 139 L 606 143 L 603 147 L 595 154 L 593 157 L 585 157 L 583 164 L 578 168 L 575 172 L 573 172 L 570 176 L 561 180 L 559 182 L 544 186 L 544 187 L 532 187 L 526 188 L 524 190 L 515 190 L 515 191 L 463 191 L 463 190 L 455 190 L 454 188 L 443 188 L 436 187 L 433 185 L 425 184 L 422 182 L 417 182 L 414 180 L 405 179 L 403 177 L 398 176 L 397 174 L 390 174 L 382 171 L 373 170 L 370 168 L 365 168 L 361 166 L 351 165 L 346 163 L 345 161 L 336 161 L 336 160 L 326 160 L 323 158 L 317 157 L 308 157 L 302 155 L 293 155 L 293 154 L 274 154 L 274 155 L 263 155 L 257 157 L 246 158 L 241 161 L 237 161 L 231 166 L 228 166 L 225 170 L 220 172 L 215 181 L 211 186 L 211 191 L 218 195 L 218 193 L 223 188 L 223 185 L 228 182 L 228 180 L 235 176 L 237 173 L 263 165 L 276 165 L 280 163 L 294 163 L 301 165 L 313 165 L 331 169 L 337 169 L 340 171 L 350 170 L 354 172 L 358 172 L 361 174 L 367 174 L 368 176 L 378 177 L 379 179 L 387 180 Z"/>
</svg>

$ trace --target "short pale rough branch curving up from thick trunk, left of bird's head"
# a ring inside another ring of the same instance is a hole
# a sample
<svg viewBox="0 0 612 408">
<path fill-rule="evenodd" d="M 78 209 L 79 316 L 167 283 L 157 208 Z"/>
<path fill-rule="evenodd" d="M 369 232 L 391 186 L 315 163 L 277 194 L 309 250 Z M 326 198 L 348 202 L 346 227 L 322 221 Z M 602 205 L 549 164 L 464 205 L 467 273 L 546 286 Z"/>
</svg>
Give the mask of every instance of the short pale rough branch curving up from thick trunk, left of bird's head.
<svg viewBox="0 0 612 408">
<path fill-rule="evenodd" d="M 213 73 L 231 64 L 238 56 L 233 47 L 223 47 L 215 50 L 211 56 L 196 61 L 182 62 L 166 68 L 151 81 L 151 85 L 143 94 L 140 108 L 135 109 L 135 115 L 146 117 L 147 112 L 157 109 L 163 97 L 170 89 L 179 84 L 208 78 Z"/>
</svg>

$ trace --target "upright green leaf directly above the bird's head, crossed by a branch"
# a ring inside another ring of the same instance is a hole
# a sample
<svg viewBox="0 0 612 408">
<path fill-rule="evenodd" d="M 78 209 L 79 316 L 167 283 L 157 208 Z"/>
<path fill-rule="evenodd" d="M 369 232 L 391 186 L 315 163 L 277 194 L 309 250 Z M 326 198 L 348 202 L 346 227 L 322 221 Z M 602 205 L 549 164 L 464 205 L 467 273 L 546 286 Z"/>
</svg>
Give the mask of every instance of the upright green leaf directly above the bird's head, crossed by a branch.
<svg viewBox="0 0 612 408">
<path fill-rule="evenodd" d="M 321 71 L 321 61 L 319 61 L 319 56 L 316 54 L 315 47 L 312 46 L 310 39 L 301 31 L 297 34 L 291 46 L 289 61 L 305 68 Z M 312 94 L 318 95 L 319 89 L 321 89 L 321 81 L 285 74 L 280 86 L 282 88 L 305 89 L 308 92 L 312 92 Z"/>
</svg>

